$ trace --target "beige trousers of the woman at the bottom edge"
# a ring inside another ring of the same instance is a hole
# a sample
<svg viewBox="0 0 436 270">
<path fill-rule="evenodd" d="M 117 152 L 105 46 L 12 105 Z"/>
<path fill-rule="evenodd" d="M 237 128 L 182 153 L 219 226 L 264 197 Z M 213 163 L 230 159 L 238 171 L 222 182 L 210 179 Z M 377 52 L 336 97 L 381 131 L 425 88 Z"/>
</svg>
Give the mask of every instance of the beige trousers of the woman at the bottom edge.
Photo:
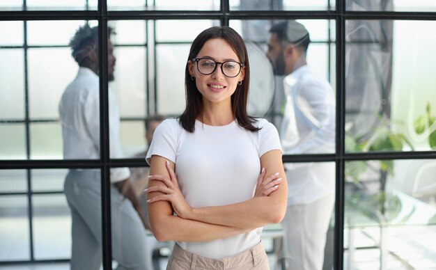
<svg viewBox="0 0 436 270">
<path fill-rule="evenodd" d="M 262 242 L 238 255 L 221 260 L 202 257 L 185 251 L 177 244 L 169 257 L 166 270 L 269 270 L 267 253 Z"/>
</svg>

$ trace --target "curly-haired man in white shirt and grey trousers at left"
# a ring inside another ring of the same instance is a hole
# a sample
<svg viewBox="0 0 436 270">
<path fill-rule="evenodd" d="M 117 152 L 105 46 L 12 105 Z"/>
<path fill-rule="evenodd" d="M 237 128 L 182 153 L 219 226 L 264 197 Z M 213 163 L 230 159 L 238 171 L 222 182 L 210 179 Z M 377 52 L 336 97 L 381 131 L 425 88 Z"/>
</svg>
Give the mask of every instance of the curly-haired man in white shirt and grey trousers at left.
<svg viewBox="0 0 436 270">
<path fill-rule="evenodd" d="M 113 34 L 109 28 L 108 36 Z M 59 104 L 65 159 L 100 159 L 100 82 L 98 27 L 81 26 L 70 41 L 79 65 Z M 108 40 L 109 80 L 114 79 L 114 47 Z M 109 148 L 121 158 L 120 116 L 115 93 L 109 88 Z M 117 269 L 146 269 L 146 219 L 130 183 L 128 168 L 111 168 L 112 256 Z M 71 169 L 65 178 L 65 196 L 72 216 L 72 270 L 97 270 L 102 262 L 102 207 L 100 170 Z M 128 198 L 129 200 L 125 200 Z"/>
</svg>

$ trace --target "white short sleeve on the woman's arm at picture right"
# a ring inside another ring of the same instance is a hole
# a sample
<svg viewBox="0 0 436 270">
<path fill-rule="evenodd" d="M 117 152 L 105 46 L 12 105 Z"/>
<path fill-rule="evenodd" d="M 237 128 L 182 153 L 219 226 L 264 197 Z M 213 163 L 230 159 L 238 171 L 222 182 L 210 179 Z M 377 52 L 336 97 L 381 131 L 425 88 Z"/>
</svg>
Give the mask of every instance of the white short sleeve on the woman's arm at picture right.
<svg viewBox="0 0 436 270">
<path fill-rule="evenodd" d="M 277 128 L 265 119 L 260 119 L 258 122 L 259 130 L 259 157 L 271 150 L 281 150 L 279 132 Z"/>
</svg>

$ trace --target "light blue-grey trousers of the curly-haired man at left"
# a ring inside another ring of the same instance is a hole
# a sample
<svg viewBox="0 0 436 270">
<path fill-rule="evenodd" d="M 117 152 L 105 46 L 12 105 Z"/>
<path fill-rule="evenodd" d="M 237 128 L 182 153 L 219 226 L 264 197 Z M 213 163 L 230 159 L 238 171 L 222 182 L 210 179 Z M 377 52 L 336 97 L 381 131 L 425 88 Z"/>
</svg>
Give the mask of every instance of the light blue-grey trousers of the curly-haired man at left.
<svg viewBox="0 0 436 270">
<path fill-rule="evenodd" d="M 102 262 L 100 171 L 70 170 L 64 192 L 72 217 L 72 270 L 98 270 Z M 118 270 L 146 269 L 146 230 L 132 203 L 111 186 L 112 257 Z"/>
</svg>

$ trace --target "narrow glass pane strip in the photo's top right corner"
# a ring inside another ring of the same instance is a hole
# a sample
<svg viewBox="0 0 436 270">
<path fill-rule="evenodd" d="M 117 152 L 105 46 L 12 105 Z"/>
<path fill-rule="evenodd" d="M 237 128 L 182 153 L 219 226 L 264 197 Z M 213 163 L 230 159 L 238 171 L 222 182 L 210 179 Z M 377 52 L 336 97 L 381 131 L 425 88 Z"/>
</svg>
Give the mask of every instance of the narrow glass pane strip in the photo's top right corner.
<svg viewBox="0 0 436 270">
<path fill-rule="evenodd" d="M 432 0 L 346 0 L 346 10 L 434 12 L 436 3 Z"/>
</svg>

